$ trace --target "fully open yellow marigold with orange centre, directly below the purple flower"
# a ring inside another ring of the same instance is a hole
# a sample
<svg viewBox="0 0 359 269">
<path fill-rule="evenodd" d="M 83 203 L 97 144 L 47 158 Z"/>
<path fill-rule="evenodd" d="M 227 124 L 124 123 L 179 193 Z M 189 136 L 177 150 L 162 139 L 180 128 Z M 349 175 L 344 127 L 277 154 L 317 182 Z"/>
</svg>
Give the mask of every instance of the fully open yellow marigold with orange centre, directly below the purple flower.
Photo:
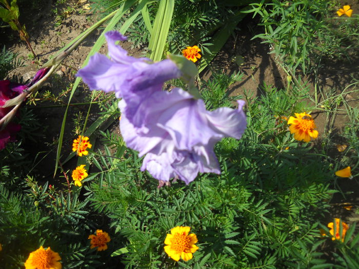
<svg viewBox="0 0 359 269">
<path fill-rule="evenodd" d="M 181 257 L 183 260 L 188 261 L 192 259 L 198 246 L 197 237 L 195 234 L 188 234 L 191 227 L 177 226 L 171 229 L 171 234 L 167 234 L 165 239 L 165 252 L 175 261 L 179 261 Z"/>
</svg>

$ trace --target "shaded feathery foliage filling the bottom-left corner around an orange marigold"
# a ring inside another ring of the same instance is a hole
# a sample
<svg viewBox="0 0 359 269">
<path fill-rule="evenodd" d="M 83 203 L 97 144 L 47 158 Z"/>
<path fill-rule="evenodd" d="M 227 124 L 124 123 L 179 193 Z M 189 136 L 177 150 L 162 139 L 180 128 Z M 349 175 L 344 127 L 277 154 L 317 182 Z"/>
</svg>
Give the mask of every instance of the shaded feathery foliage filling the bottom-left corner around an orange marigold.
<svg viewBox="0 0 359 269">
<path fill-rule="evenodd" d="M 65 268 L 94 268 L 101 258 L 89 249 L 87 237 L 96 229 L 78 193 L 63 193 L 38 185 L 32 178 L 0 170 L 0 262 L 4 268 L 23 266 L 30 252 L 50 246 Z M 76 242 L 76 243 L 75 243 Z"/>
</svg>

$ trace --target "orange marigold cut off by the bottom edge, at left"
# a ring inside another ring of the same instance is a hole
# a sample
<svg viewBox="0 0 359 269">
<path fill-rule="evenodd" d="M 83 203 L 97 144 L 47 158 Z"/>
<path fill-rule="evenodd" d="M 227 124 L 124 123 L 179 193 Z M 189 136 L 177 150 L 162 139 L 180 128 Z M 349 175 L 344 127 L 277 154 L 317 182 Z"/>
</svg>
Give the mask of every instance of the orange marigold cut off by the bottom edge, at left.
<svg viewBox="0 0 359 269">
<path fill-rule="evenodd" d="M 46 250 L 43 246 L 30 253 L 25 262 L 25 269 L 61 269 L 61 260 L 57 252 L 53 252 L 50 247 Z"/>
</svg>

